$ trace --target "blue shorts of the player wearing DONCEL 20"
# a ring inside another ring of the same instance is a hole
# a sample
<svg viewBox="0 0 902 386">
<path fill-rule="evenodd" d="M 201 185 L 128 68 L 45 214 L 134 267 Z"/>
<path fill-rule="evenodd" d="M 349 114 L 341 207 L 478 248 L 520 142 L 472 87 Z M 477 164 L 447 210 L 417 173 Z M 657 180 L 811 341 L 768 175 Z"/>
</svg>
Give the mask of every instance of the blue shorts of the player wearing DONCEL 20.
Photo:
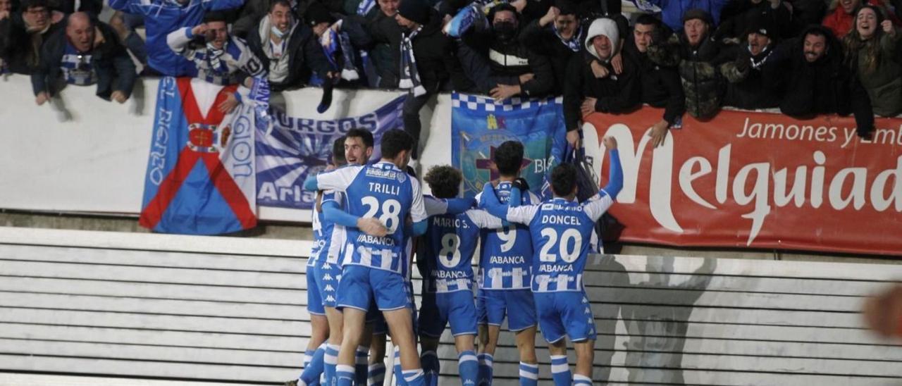
<svg viewBox="0 0 902 386">
<path fill-rule="evenodd" d="M 548 343 L 595 339 L 595 319 L 584 291 L 536 292 L 538 328 Z"/>
</svg>

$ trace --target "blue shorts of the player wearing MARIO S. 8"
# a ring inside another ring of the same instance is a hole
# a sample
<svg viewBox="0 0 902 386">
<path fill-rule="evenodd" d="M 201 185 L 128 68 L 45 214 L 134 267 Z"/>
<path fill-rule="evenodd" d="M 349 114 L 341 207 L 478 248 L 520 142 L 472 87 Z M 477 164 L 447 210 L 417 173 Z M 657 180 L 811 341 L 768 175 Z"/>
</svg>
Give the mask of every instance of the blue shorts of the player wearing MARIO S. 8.
<svg viewBox="0 0 902 386">
<path fill-rule="evenodd" d="M 452 335 L 476 335 L 476 305 L 473 302 L 473 291 L 423 294 L 423 307 L 420 312 L 423 317 L 420 335 L 439 337 L 449 323 Z"/>
</svg>

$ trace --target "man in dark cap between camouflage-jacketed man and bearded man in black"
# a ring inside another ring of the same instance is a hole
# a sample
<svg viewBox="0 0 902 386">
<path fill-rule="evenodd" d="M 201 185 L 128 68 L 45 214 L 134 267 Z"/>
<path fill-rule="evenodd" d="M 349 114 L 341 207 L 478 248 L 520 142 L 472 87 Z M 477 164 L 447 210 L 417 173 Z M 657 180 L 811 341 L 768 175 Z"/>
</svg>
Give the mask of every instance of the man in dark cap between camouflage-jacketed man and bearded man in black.
<svg viewBox="0 0 902 386">
<path fill-rule="evenodd" d="M 777 107 L 780 95 L 774 87 L 762 87 L 767 81 L 764 66 L 769 65 L 770 55 L 777 45 L 777 28 L 771 23 L 754 22 L 746 33 L 745 44 L 739 47 L 736 60 L 721 67 L 727 79 L 723 106 L 747 110 Z"/>
</svg>

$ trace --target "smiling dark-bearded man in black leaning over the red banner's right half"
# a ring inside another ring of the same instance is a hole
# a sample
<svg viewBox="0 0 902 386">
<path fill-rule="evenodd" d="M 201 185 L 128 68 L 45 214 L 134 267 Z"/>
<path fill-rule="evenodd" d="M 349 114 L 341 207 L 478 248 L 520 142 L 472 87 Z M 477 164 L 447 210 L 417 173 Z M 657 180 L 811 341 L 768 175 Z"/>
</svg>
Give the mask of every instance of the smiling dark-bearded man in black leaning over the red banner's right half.
<svg viewBox="0 0 902 386">
<path fill-rule="evenodd" d="M 781 43 L 765 67 L 766 86 L 785 90 L 783 114 L 808 118 L 821 114 L 855 115 L 858 134 L 874 128 L 868 92 L 842 63 L 842 46 L 820 25 L 808 27 L 796 39 Z"/>
</svg>

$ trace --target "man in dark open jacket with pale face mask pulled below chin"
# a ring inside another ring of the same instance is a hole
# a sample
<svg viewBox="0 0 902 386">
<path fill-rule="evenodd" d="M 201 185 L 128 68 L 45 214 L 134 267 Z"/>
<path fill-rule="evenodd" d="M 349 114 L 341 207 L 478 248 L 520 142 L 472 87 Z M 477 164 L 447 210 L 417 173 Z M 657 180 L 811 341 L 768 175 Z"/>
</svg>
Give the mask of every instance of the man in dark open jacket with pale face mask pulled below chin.
<svg viewBox="0 0 902 386">
<path fill-rule="evenodd" d="M 288 0 L 272 2 L 247 43 L 267 69 L 272 91 L 303 87 L 311 73 L 327 78 L 326 55 L 313 31 L 295 19 Z"/>
</svg>

